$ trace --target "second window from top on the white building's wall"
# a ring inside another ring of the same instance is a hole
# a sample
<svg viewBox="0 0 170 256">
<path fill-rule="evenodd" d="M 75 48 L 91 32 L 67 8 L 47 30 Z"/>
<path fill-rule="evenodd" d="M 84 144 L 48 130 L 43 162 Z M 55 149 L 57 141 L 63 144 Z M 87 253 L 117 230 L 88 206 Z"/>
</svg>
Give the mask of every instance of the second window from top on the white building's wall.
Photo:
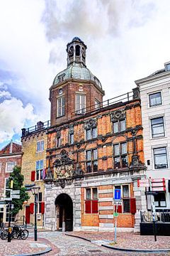
<svg viewBox="0 0 170 256">
<path fill-rule="evenodd" d="M 164 117 L 151 119 L 152 138 L 164 137 Z"/>
</svg>

